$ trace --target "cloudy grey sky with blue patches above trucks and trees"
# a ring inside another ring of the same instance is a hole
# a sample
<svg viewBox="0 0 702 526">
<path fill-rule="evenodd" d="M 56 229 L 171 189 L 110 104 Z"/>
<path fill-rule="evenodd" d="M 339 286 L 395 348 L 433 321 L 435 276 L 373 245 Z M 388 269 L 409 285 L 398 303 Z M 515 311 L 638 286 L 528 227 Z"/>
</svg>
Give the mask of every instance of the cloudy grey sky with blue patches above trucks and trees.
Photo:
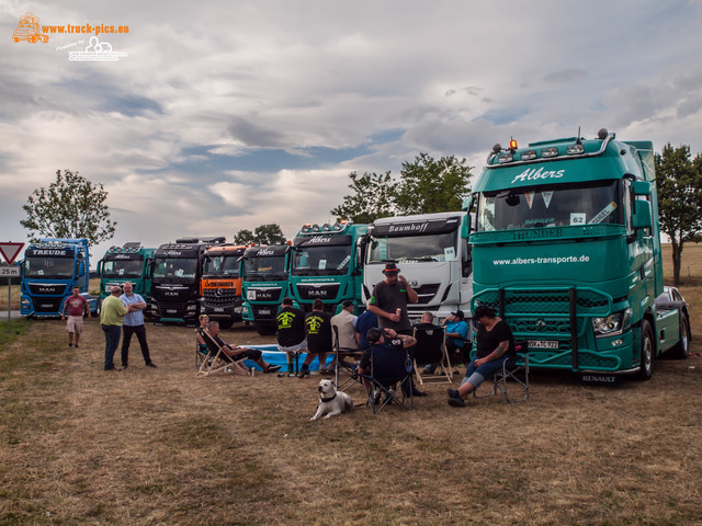
<svg viewBox="0 0 702 526">
<path fill-rule="evenodd" d="M 578 127 L 702 151 L 700 0 L 57 3 L 0 0 L 0 241 L 26 239 L 22 205 L 57 169 L 110 193 L 100 256 L 268 222 L 293 237 L 351 171 L 419 152 L 478 173 L 495 142 Z M 25 12 L 128 26 L 98 35 L 126 56 L 69 60 L 90 34 L 14 43 Z"/>
</svg>

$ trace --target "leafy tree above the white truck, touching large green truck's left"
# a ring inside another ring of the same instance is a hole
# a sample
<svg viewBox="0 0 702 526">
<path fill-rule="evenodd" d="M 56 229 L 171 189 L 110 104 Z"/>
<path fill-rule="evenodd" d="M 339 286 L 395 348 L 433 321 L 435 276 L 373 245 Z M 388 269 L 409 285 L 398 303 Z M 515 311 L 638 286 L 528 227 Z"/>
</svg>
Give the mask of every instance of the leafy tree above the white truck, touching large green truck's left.
<svg viewBox="0 0 702 526">
<path fill-rule="evenodd" d="M 454 156 L 434 160 L 419 153 L 414 162 L 404 162 L 395 204 L 403 215 L 460 210 L 471 193 L 472 167 Z"/>
</svg>

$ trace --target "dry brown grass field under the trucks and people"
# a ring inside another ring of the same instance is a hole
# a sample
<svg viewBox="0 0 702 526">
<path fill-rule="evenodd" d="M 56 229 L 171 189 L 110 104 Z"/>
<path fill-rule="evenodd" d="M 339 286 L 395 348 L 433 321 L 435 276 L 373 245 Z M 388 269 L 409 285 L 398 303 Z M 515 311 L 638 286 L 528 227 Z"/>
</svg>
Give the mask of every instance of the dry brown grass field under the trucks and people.
<svg viewBox="0 0 702 526">
<path fill-rule="evenodd" d="M 310 423 L 314 376 L 195 379 L 193 330 L 147 331 L 157 369 L 133 342 L 103 373 L 95 320 L 79 350 L 60 321 L 1 347 L 0 524 L 702 524 L 702 358 L 614 388 L 533 373 L 528 402 L 464 410 L 445 384 L 375 416 L 352 390 L 350 414 Z"/>
</svg>

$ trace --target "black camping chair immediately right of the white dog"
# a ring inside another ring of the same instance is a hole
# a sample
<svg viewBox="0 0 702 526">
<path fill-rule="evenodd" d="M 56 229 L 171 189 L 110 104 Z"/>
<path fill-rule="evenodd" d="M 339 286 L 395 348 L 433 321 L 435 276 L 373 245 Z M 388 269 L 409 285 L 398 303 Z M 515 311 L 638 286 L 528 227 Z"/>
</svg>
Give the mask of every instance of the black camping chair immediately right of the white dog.
<svg viewBox="0 0 702 526">
<path fill-rule="evenodd" d="M 371 413 L 380 413 L 392 402 L 412 409 L 412 361 L 407 350 L 371 345 L 371 371 L 359 374 L 359 377 L 366 381 L 366 403 Z M 382 402 L 381 396 L 385 397 Z"/>
</svg>

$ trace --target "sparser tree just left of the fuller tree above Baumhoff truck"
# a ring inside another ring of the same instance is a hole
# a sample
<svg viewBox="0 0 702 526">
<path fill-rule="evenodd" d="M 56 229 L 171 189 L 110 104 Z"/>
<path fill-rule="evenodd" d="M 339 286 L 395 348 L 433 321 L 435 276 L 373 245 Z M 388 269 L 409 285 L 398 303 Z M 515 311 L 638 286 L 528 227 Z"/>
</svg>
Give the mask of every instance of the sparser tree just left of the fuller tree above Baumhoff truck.
<svg viewBox="0 0 702 526">
<path fill-rule="evenodd" d="M 349 188 L 353 194 L 344 195 L 343 204 L 331 210 L 338 220 L 371 224 L 381 217 L 395 215 L 396 182 L 389 171 L 383 174 L 365 172 L 363 175 L 351 172 L 349 178 Z"/>
</svg>

